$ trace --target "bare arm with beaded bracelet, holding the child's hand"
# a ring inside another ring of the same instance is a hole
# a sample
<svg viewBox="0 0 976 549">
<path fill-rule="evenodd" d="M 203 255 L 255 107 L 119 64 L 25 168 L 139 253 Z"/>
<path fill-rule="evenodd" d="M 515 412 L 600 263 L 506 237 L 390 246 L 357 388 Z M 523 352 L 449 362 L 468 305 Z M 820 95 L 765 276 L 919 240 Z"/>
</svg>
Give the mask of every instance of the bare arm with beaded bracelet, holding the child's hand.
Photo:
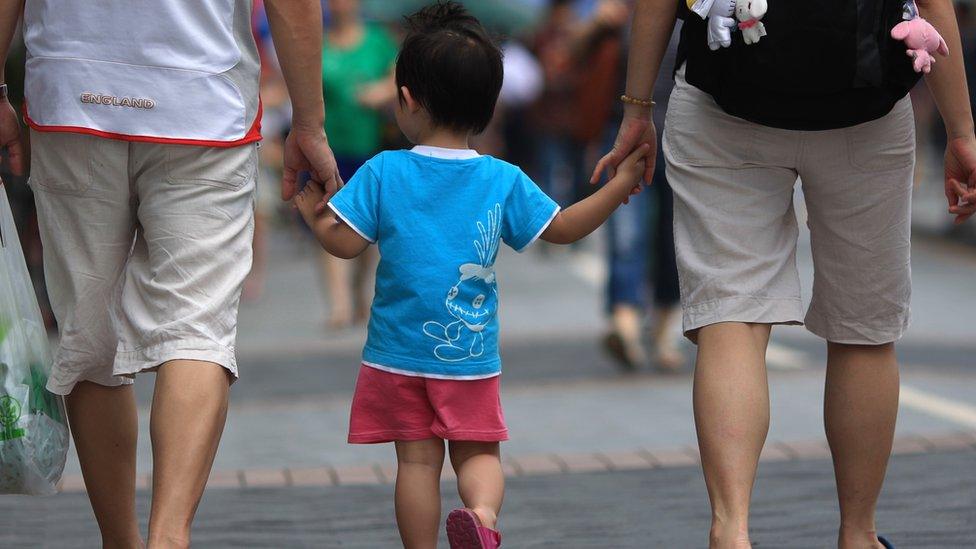
<svg viewBox="0 0 976 549">
<path fill-rule="evenodd" d="M 637 0 L 631 24 L 630 56 L 627 60 L 625 93 L 630 97 L 650 99 L 653 96 L 654 82 L 661 70 L 661 60 L 674 31 L 677 9 L 674 0 Z M 651 154 L 644 168 L 644 182 L 650 183 L 657 155 L 657 133 L 651 119 L 651 109 L 627 104 L 624 106 L 624 119 L 613 149 L 597 163 L 590 182 L 597 183 L 604 171 L 609 177 L 613 177 L 617 166 L 644 143 L 651 146 Z"/>
</svg>

